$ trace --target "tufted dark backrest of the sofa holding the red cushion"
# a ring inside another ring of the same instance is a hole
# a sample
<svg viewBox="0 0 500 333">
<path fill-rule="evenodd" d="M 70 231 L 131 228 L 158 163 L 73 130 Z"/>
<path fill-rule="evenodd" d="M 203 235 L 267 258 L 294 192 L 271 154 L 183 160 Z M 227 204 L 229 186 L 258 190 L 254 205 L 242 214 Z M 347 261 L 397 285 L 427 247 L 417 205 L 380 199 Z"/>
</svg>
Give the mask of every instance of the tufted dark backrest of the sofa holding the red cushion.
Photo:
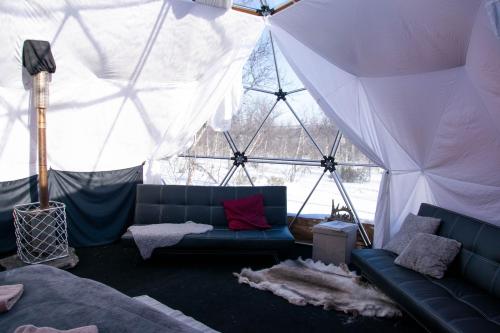
<svg viewBox="0 0 500 333">
<path fill-rule="evenodd" d="M 138 185 L 135 224 L 196 223 L 227 226 L 223 200 L 261 193 L 271 225 L 287 223 L 285 186 Z"/>
</svg>

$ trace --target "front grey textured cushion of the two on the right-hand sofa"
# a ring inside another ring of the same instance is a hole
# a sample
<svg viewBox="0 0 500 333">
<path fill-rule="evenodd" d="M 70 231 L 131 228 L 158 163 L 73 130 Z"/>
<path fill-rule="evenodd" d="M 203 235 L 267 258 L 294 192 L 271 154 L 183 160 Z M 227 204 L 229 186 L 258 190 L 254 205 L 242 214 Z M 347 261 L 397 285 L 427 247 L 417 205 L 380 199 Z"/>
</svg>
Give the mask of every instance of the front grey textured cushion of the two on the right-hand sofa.
<svg viewBox="0 0 500 333">
<path fill-rule="evenodd" d="M 416 272 L 441 279 L 460 251 L 454 239 L 418 233 L 394 260 L 394 263 Z"/>
</svg>

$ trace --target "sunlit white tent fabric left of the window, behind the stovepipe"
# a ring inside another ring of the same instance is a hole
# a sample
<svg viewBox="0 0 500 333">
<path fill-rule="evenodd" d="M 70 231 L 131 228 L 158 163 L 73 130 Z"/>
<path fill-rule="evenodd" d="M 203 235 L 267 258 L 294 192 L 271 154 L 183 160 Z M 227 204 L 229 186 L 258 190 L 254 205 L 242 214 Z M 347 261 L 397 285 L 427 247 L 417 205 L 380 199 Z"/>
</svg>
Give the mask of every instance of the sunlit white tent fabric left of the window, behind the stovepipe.
<svg viewBox="0 0 500 333">
<path fill-rule="evenodd" d="M 0 4 L 0 181 L 36 173 L 25 39 L 52 45 L 50 167 L 114 170 L 171 156 L 210 120 L 226 129 L 261 18 L 181 0 Z M 151 170 L 150 170 L 151 171 Z"/>
</svg>

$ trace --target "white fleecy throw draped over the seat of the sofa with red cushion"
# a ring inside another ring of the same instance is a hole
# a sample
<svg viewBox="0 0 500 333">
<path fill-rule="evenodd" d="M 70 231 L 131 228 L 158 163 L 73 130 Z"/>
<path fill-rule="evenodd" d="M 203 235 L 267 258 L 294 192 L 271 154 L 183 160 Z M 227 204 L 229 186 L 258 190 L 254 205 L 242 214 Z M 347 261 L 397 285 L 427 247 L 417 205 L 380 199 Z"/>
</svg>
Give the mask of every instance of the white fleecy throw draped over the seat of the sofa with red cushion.
<svg viewBox="0 0 500 333">
<path fill-rule="evenodd" d="M 194 223 L 159 223 L 133 225 L 128 228 L 134 237 L 139 252 L 144 259 L 151 257 L 158 247 L 172 246 L 179 243 L 185 235 L 202 234 L 213 230 L 209 224 Z"/>
</svg>

